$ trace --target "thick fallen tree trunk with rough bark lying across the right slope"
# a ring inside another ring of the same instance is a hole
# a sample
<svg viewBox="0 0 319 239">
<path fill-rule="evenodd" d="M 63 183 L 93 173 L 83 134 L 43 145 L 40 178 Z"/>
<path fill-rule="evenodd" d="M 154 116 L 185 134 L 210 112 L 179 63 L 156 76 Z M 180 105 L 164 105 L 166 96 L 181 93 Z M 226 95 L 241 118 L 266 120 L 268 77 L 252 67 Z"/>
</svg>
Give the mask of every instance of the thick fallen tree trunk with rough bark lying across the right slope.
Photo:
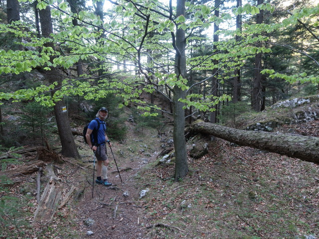
<svg viewBox="0 0 319 239">
<path fill-rule="evenodd" d="M 210 134 L 238 145 L 268 150 L 319 164 L 319 137 L 241 130 L 201 120 L 195 121 L 190 129 L 194 132 Z"/>
</svg>

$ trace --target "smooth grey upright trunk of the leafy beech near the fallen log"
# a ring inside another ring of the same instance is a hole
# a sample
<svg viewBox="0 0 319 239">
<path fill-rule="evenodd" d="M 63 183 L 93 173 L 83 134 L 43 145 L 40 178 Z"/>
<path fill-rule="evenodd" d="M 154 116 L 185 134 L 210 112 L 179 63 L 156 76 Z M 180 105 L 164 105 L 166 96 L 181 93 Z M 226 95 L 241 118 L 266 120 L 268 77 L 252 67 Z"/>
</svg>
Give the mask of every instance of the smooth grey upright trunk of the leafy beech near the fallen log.
<svg viewBox="0 0 319 239">
<path fill-rule="evenodd" d="M 177 0 L 176 4 L 176 17 L 185 16 L 185 0 Z M 179 76 L 186 77 L 186 56 L 185 56 L 185 31 L 182 28 L 176 30 L 176 50 L 175 54 L 175 73 L 177 78 Z M 173 88 L 173 140 L 175 148 L 175 182 L 178 179 L 183 178 L 188 173 L 187 165 L 187 151 L 186 151 L 186 140 L 184 137 L 185 127 L 185 114 L 184 114 L 184 103 L 179 102 L 179 99 L 186 98 L 186 91 L 181 90 L 178 86 Z"/>
</svg>

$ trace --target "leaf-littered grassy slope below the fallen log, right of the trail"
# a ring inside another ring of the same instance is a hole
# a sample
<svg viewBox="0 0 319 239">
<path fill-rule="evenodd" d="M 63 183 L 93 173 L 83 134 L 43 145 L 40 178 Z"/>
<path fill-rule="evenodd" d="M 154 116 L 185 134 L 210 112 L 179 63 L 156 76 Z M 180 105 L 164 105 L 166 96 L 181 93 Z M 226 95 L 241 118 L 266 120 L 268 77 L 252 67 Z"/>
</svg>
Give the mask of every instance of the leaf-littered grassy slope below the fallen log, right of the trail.
<svg viewBox="0 0 319 239">
<path fill-rule="evenodd" d="M 144 199 L 146 221 L 171 226 L 171 230 L 152 229 L 149 235 L 196 239 L 319 236 L 317 165 L 231 147 L 223 140 L 210 147 L 220 150 L 222 157 L 216 158 L 210 150 L 209 155 L 190 160 L 190 173 L 179 183 L 171 178 L 173 166 L 154 164 L 153 169 L 141 172 L 139 182 L 148 182 L 145 186 L 150 188 Z"/>
</svg>

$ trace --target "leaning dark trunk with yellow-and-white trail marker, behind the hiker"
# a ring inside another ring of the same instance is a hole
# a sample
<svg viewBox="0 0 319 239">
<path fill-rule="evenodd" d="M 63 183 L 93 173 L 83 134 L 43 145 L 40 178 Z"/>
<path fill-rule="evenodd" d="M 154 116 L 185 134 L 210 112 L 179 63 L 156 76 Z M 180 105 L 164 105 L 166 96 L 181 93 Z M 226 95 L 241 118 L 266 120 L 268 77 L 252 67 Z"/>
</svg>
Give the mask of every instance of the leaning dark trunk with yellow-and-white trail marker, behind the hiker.
<svg viewBox="0 0 319 239">
<path fill-rule="evenodd" d="M 42 35 L 48 37 L 51 33 L 53 33 L 50 6 L 47 6 L 45 9 L 40 10 L 39 16 L 40 16 Z M 51 42 L 47 43 L 47 46 L 50 46 L 54 49 L 54 45 Z M 51 59 L 51 61 L 53 61 L 53 58 Z M 53 97 L 56 90 L 60 89 L 60 87 L 62 86 L 61 85 L 62 77 L 58 69 L 54 67 L 51 67 L 51 70 L 47 71 L 46 77 L 50 84 L 57 82 L 57 85 L 51 91 L 51 96 Z M 70 122 L 68 119 L 63 98 L 61 101 L 55 102 L 54 115 L 55 115 L 56 124 L 58 128 L 59 136 L 60 136 L 60 141 L 62 146 L 62 151 L 61 151 L 62 155 L 66 157 L 80 158 L 80 154 L 76 148 L 74 138 L 72 135 Z"/>
</svg>

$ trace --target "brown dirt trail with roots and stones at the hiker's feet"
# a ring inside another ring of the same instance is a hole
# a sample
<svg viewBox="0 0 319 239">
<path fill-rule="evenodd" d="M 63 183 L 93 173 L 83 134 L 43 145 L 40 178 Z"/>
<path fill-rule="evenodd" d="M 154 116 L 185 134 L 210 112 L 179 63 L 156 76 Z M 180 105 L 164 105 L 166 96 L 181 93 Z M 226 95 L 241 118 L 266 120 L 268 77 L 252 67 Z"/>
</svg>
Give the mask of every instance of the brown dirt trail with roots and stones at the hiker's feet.
<svg viewBox="0 0 319 239">
<path fill-rule="evenodd" d="M 113 152 L 115 150 L 113 149 Z M 105 187 L 95 183 L 92 198 L 93 163 L 91 163 L 87 171 L 85 191 L 76 205 L 78 232 L 83 235 L 81 238 L 90 239 L 145 238 L 146 225 L 141 223 L 145 222 L 142 220 L 145 202 L 143 198 L 140 199 L 140 192 L 146 188 L 143 186 L 147 186 L 147 183 L 139 185 L 135 176 L 149 162 L 156 160 L 156 155 L 148 159 L 143 157 L 125 160 L 116 158 L 123 183 L 111 152 L 108 151 L 108 155 L 111 162 L 111 167 L 108 167 L 108 178 L 113 186 Z M 90 226 L 91 220 L 94 223 Z M 88 231 L 94 234 L 87 236 Z"/>
</svg>

